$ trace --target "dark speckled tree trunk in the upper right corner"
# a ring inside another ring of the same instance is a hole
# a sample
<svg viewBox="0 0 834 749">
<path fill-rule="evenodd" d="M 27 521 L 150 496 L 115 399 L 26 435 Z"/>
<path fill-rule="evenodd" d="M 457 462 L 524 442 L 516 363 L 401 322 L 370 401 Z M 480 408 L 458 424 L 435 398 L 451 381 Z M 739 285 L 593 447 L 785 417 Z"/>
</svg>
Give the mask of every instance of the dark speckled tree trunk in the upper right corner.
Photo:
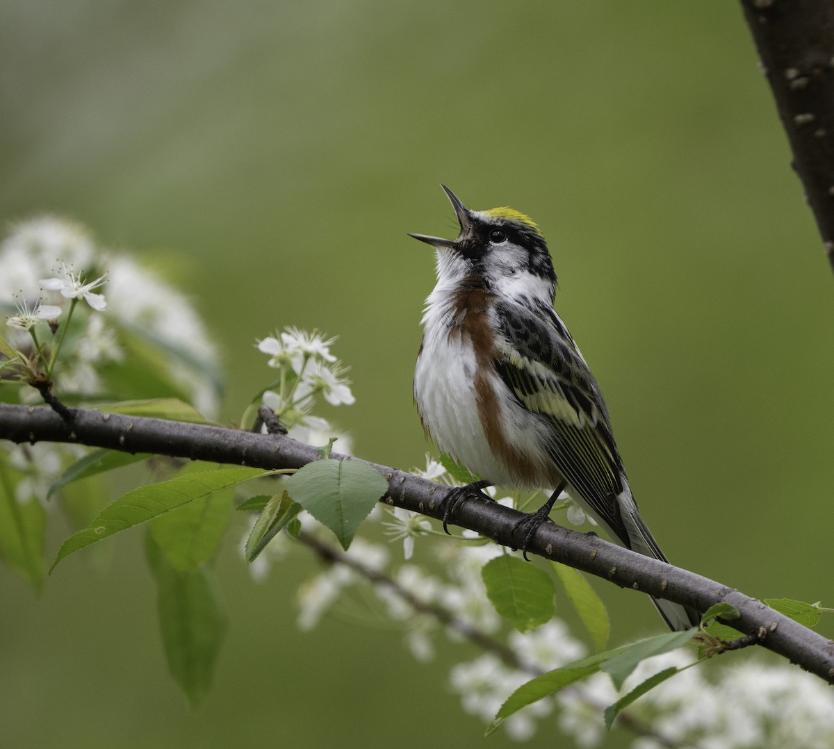
<svg viewBox="0 0 834 749">
<path fill-rule="evenodd" d="M 834 4 L 741 0 L 834 268 Z"/>
</svg>

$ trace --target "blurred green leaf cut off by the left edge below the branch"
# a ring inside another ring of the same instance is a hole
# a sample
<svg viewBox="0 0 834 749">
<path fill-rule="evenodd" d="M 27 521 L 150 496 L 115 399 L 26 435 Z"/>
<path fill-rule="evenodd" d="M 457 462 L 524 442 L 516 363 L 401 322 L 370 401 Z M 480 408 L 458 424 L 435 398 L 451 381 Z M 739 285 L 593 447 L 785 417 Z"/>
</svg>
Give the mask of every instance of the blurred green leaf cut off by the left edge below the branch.
<svg viewBox="0 0 834 749">
<path fill-rule="evenodd" d="M 43 587 L 46 513 L 37 498 L 18 502 L 18 471 L 0 462 L 0 559 L 36 591 Z"/>
</svg>

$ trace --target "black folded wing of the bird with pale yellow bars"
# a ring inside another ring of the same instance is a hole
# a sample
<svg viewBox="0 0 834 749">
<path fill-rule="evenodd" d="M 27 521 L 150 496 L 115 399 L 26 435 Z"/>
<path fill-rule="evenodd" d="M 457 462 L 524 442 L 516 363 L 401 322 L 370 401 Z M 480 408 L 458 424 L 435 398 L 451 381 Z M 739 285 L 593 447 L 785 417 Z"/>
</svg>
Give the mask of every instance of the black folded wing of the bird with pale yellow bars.
<svg viewBox="0 0 834 749">
<path fill-rule="evenodd" d="M 552 427 L 550 457 L 567 482 L 623 540 L 616 495 L 622 463 L 600 386 L 551 309 L 495 307 L 504 338 L 495 368 L 520 405 Z"/>
</svg>

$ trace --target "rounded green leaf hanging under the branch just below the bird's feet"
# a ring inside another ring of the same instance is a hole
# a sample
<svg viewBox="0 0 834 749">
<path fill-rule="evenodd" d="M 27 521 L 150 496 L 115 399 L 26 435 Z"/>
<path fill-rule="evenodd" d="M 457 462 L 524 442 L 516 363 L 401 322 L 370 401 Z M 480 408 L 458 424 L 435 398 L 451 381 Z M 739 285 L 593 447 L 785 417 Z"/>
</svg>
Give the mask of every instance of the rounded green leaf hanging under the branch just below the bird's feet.
<svg viewBox="0 0 834 749">
<path fill-rule="evenodd" d="M 531 630 L 553 617 L 553 581 L 530 562 L 502 554 L 488 561 L 480 576 L 495 611 L 518 631 Z"/>
</svg>

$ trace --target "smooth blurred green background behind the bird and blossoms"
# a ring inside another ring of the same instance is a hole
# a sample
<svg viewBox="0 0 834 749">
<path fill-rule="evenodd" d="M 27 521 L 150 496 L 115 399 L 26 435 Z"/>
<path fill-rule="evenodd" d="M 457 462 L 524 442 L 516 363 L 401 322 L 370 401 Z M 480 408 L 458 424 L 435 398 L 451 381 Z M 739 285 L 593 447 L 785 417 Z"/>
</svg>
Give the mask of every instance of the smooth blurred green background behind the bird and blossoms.
<svg viewBox="0 0 834 749">
<path fill-rule="evenodd" d="M 223 346 L 224 420 L 269 381 L 256 337 L 319 327 L 357 396 L 328 415 L 402 468 L 426 449 L 411 374 L 434 282 L 406 232 L 454 236 L 440 182 L 530 214 L 667 554 L 834 601 L 831 269 L 735 3 L 3 3 L 0 111 L 0 220 L 63 214 L 162 261 Z M 229 637 L 188 711 L 139 534 L 109 543 L 40 597 L 0 571 L 8 746 L 484 741 L 447 691 L 455 647 L 427 666 L 396 633 L 301 634 L 310 560 L 258 585 L 231 543 Z M 659 631 L 596 587 L 615 644 Z"/>
</svg>

